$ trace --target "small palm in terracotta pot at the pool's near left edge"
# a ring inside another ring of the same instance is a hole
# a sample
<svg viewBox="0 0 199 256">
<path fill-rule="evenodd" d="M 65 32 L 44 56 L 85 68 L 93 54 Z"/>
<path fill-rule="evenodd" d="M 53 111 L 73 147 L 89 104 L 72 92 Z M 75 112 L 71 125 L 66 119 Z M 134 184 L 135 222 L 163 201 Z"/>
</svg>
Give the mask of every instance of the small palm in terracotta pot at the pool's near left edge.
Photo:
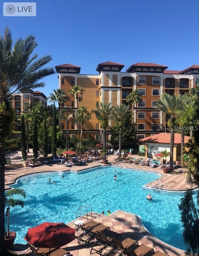
<svg viewBox="0 0 199 256">
<path fill-rule="evenodd" d="M 12 249 L 15 238 L 16 238 L 16 233 L 13 231 L 9 230 L 9 217 L 10 217 L 10 207 L 15 207 L 16 205 L 20 205 L 21 207 L 24 207 L 24 201 L 21 199 L 16 199 L 13 198 L 14 195 L 20 195 L 23 198 L 25 198 L 26 193 L 24 189 L 11 189 L 8 190 L 5 196 L 5 205 L 8 206 L 6 210 L 7 214 L 7 232 L 5 232 L 5 244 L 6 244 L 6 249 Z"/>
</svg>

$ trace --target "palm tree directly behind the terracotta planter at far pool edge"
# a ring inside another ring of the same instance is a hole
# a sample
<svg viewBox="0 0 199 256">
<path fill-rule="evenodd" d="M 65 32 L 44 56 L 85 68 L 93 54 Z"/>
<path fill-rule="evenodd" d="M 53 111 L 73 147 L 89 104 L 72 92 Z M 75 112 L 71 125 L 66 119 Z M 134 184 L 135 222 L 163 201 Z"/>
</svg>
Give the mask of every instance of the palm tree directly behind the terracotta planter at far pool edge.
<svg viewBox="0 0 199 256">
<path fill-rule="evenodd" d="M 96 115 L 96 118 L 99 119 L 99 122 L 103 128 L 103 149 L 104 151 L 107 150 L 107 143 L 106 143 L 106 131 L 108 127 L 109 120 L 112 119 L 113 109 L 114 106 L 110 106 L 111 103 L 101 103 L 101 106 L 95 105 L 96 109 L 92 109 L 91 113 Z M 106 159 L 106 154 L 104 154 Z"/>
</svg>

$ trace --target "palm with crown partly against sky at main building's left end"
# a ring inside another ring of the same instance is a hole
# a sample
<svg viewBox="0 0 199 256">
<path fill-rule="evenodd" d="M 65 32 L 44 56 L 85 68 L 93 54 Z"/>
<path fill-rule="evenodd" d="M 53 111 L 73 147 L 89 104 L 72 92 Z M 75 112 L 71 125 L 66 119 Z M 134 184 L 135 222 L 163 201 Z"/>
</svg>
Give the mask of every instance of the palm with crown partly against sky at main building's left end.
<svg viewBox="0 0 199 256">
<path fill-rule="evenodd" d="M 58 88 L 57 90 L 53 90 L 53 93 L 50 93 L 49 102 L 58 102 L 59 109 L 59 128 L 61 129 L 61 105 L 66 101 L 69 101 L 70 98 L 66 96 L 66 92 L 63 89 Z"/>
</svg>

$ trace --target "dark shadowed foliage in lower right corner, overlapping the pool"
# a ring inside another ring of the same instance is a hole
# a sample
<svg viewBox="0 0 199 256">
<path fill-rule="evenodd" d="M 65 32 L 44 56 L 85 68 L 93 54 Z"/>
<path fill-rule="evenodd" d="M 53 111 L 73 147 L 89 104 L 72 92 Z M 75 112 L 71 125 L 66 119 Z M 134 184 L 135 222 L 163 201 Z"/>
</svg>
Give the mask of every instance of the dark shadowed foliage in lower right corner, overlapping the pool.
<svg viewBox="0 0 199 256">
<path fill-rule="evenodd" d="M 197 206 L 196 206 L 197 204 Z M 194 202 L 193 192 L 188 189 L 180 200 L 181 221 L 183 222 L 183 238 L 187 244 L 187 255 L 199 255 L 199 192 L 197 202 Z"/>
</svg>

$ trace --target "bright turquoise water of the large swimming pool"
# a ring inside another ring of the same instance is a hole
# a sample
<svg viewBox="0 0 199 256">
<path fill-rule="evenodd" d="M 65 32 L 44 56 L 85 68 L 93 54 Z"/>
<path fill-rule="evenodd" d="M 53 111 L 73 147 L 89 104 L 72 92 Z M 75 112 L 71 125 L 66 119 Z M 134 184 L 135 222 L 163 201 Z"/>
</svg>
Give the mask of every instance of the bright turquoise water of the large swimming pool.
<svg viewBox="0 0 199 256">
<path fill-rule="evenodd" d="M 116 169 L 116 172 L 114 170 Z M 118 179 L 114 180 L 113 175 Z M 48 179 L 55 181 L 49 184 Z M 160 178 L 156 173 L 118 167 L 97 167 L 83 172 L 58 172 L 28 175 L 13 188 L 25 189 L 24 208 L 11 209 L 10 230 L 17 233 L 15 243 L 23 239 L 29 227 L 48 222 L 70 222 L 78 207 L 90 205 L 94 212 L 118 209 L 141 216 L 151 234 L 180 249 L 183 243 L 178 204 L 182 193 L 151 191 L 143 185 Z M 155 196 L 152 201 L 146 195 Z"/>
</svg>

